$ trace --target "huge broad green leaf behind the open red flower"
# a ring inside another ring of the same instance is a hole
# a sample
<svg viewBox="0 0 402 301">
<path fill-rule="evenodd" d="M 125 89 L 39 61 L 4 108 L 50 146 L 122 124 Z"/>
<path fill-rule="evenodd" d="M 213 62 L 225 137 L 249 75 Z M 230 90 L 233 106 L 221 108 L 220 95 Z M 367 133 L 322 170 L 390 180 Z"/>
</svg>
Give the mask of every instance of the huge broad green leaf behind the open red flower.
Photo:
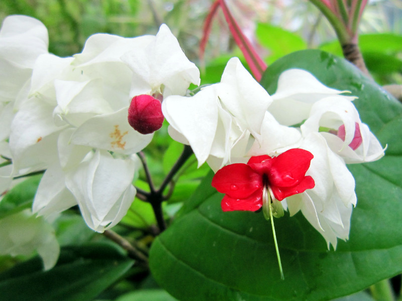
<svg viewBox="0 0 402 301">
<path fill-rule="evenodd" d="M 151 271 L 176 298 L 329 300 L 402 271 L 402 105 L 345 60 L 318 50 L 276 61 L 263 85 L 273 93 L 279 74 L 294 67 L 359 96 L 355 104 L 361 119 L 383 145 L 388 143 L 380 161 L 349 166 L 358 198 L 350 239 L 339 241 L 336 251 L 328 250 L 302 214 L 285 213 L 275 219 L 285 276 L 281 280 L 271 228 L 263 214 L 223 213 L 222 195 L 211 194 L 209 178 L 151 248 Z"/>
</svg>

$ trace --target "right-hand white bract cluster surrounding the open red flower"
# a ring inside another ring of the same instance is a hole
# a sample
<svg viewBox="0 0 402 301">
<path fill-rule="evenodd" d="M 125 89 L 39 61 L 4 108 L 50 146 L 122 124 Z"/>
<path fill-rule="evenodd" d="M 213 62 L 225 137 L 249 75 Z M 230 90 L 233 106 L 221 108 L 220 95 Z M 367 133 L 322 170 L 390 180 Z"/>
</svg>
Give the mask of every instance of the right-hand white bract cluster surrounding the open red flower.
<svg viewBox="0 0 402 301">
<path fill-rule="evenodd" d="M 315 187 L 281 203 L 290 215 L 302 211 L 324 236 L 328 248 L 349 237 L 355 181 L 346 163 L 370 162 L 383 149 L 361 122 L 355 97 L 320 83 L 305 70 L 283 72 L 272 96 L 232 58 L 220 83 L 192 97 L 169 96 L 162 111 L 169 133 L 191 145 L 199 164 L 216 172 L 250 157 L 277 156 L 290 148 L 314 155 L 307 176 Z M 301 125 L 300 125 L 301 124 Z"/>
</svg>

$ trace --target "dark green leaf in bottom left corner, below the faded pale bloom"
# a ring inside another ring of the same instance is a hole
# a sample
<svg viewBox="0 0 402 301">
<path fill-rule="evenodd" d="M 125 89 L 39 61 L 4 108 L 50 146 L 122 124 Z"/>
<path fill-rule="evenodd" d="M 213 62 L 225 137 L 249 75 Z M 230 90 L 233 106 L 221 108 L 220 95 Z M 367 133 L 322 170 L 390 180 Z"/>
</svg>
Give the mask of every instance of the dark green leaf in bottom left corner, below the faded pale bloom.
<svg viewBox="0 0 402 301">
<path fill-rule="evenodd" d="M 115 246 L 105 243 L 64 247 L 56 266 L 42 270 L 35 257 L 0 274 L 3 300 L 91 300 L 133 265 Z"/>
</svg>

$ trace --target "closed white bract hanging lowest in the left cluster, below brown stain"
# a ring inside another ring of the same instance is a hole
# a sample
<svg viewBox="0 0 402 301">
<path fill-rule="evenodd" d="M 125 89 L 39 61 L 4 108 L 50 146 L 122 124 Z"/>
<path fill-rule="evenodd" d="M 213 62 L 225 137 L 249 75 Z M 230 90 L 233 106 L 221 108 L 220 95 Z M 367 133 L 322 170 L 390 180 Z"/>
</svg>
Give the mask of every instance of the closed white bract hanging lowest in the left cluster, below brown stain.
<svg viewBox="0 0 402 301">
<path fill-rule="evenodd" d="M 131 184 L 135 170 L 135 161 L 97 150 L 66 174 L 66 185 L 90 228 L 103 232 L 127 213 L 136 193 Z"/>
</svg>

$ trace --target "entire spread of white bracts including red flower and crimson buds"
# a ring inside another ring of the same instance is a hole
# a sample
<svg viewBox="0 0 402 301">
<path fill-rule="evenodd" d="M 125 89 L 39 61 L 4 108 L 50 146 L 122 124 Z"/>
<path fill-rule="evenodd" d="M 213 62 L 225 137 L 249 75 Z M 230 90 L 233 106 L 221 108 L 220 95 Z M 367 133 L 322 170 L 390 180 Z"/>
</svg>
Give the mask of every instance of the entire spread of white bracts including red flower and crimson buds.
<svg viewBox="0 0 402 301">
<path fill-rule="evenodd" d="M 5 19 L 0 193 L 13 178 L 44 171 L 33 212 L 51 218 L 77 205 L 103 232 L 131 206 L 136 153 L 166 118 L 170 136 L 216 172 L 224 211 L 257 211 L 268 191 L 278 208 L 301 211 L 328 247 L 348 238 L 356 195 L 346 164 L 384 152 L 347 91 L 291 69 L 270 96 L 232 58 L 220 83 L 184 96 L 199 85 L 199 71 L 166 25 L 156 36 L 95 34 L 72 57 L 47 48 L 42 23 Z"/>
</svg>

